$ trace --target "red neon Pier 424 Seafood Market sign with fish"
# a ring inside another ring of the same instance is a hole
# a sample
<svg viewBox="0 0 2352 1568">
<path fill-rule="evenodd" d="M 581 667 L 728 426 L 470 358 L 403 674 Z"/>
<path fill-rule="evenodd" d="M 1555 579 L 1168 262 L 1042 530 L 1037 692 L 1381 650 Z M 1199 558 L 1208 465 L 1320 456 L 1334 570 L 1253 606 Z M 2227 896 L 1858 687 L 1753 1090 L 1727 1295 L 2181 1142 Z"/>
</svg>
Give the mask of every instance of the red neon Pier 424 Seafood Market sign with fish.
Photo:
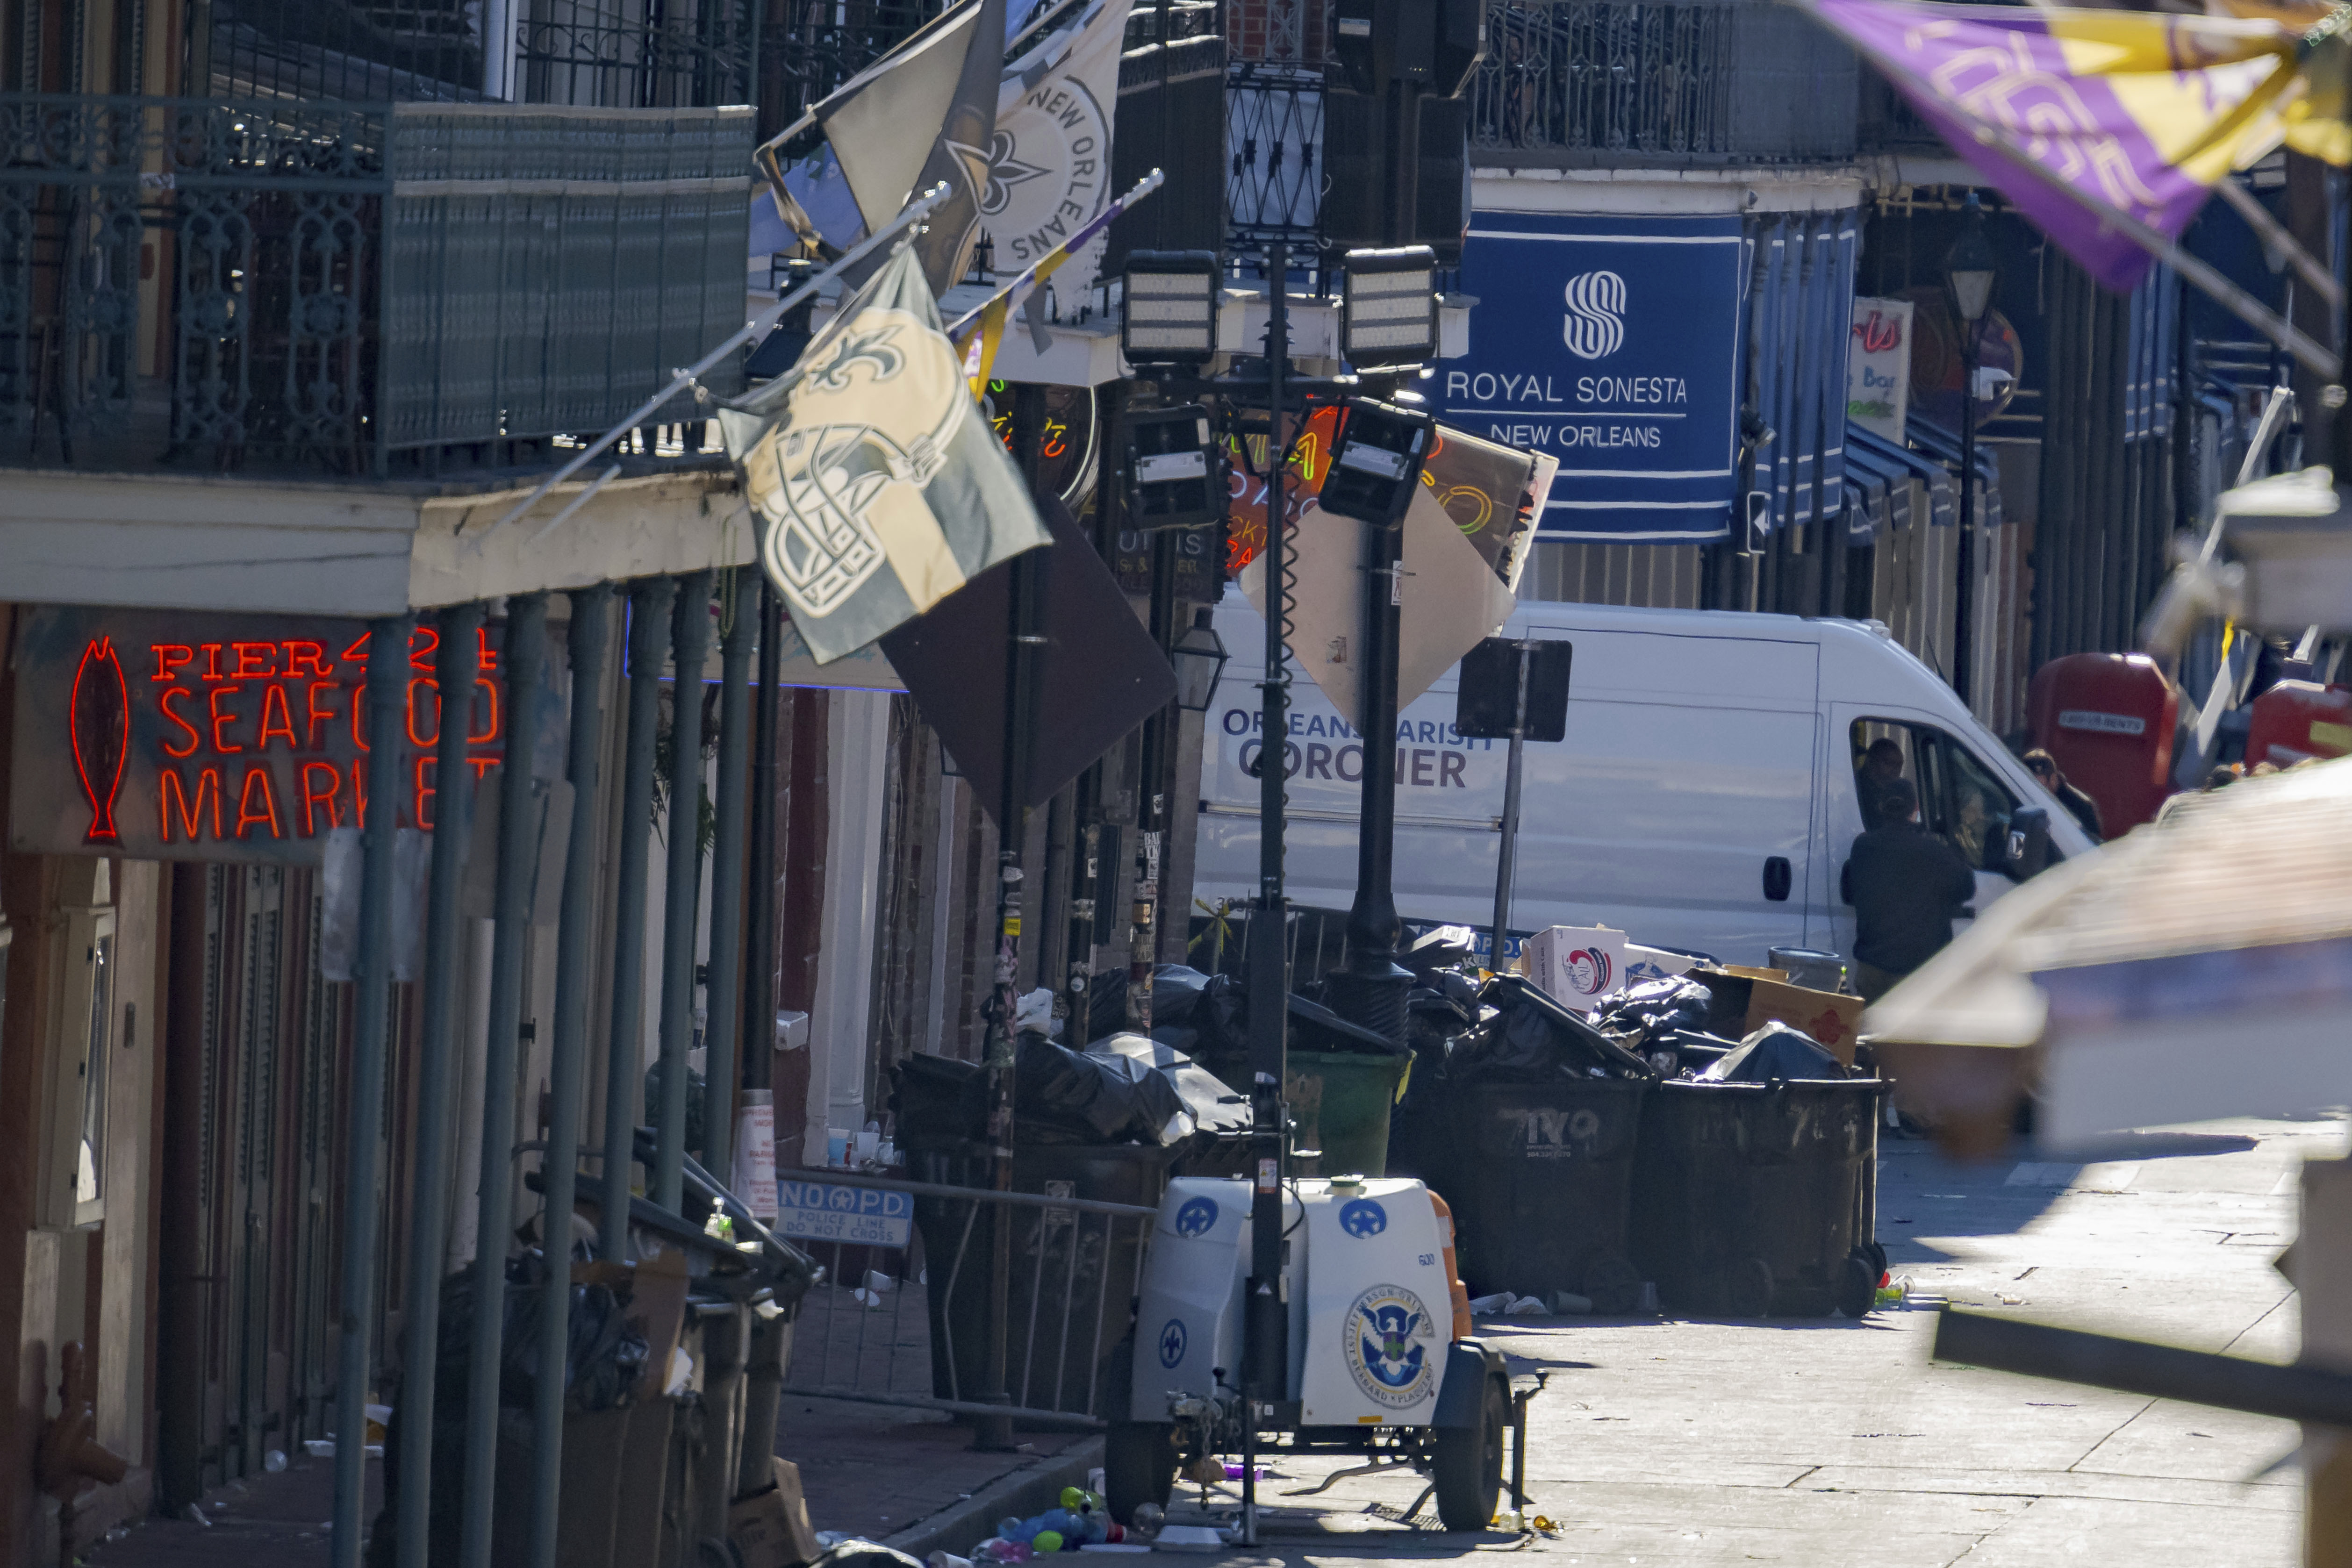
<svg viewBox="0 0 2352 1568">
<path fill-rule="evenodd" d="M 463 708 L 473 780 L 503 755 L 496 644 L 496 630 L 482 632 Z M 315 865 L 325 835 L 360 827 L 386 795 L 400 827 L 430 830 L 440 635 L 409 632 L 409 745 L 388 790 L 367 755 L 367 654 L 365 621 L 24 611 L 9 846 Z"/>
</svg>

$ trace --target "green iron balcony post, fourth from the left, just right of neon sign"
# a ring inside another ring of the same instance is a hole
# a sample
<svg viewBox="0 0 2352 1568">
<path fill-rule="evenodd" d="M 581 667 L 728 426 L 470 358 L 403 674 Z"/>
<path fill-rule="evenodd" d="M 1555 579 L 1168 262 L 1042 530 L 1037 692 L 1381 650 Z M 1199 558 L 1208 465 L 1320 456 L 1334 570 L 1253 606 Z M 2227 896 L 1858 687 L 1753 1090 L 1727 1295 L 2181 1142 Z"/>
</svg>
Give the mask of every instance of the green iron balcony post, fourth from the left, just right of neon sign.
<svg viewBox="0 0 2352 1568">
<path fill-rule="evenodd" d="M 539 1298 L 539 1382 L 532 1387 L 532 1563 L 555 1568 L 564 1469 L 564 1363 L 572 1349 L 572 1199 L 579 1192 L 581 1100 L 588 1070 L 588 990 L 595 985 L 597 865 L 604 795 L 604 642 L 612 585 L 572 595 L 572 717 L 564 776 L 572 780 L 572 827 L 564 842 L 564 905 L 555 926 L 555 1030 L 548 1046 L 548 1152 L 541 1164 L 548 1206 L 539 1253 L 548 1286 Z M 402 1472 L 402 1481 L 407 1472 Z M 402 1488 L 407 1490 L 407 1488 Z"/>
</svg>

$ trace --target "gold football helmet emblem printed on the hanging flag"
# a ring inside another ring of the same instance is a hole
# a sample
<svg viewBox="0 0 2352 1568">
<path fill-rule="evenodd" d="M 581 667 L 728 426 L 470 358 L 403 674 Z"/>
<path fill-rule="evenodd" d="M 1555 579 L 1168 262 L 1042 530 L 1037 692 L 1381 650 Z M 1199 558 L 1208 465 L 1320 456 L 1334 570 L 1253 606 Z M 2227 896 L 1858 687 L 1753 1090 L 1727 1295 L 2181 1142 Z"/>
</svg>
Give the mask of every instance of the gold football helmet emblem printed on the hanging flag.
<svg viewBox="0 0 2352 1568">
<path fill-rule="evenodd" d="M 889 562 L 908 597 L 962 571 L 922 491 L 962 418 L 955 350 L 908 310 L 861 310 L 816 350 L 790 418 L 746 454 L 750 503 L 771 520 L 762 555 L 795 614 L 828 616 Z M 946 559 L 941 559 L 946 557 Z"/>
</svg>

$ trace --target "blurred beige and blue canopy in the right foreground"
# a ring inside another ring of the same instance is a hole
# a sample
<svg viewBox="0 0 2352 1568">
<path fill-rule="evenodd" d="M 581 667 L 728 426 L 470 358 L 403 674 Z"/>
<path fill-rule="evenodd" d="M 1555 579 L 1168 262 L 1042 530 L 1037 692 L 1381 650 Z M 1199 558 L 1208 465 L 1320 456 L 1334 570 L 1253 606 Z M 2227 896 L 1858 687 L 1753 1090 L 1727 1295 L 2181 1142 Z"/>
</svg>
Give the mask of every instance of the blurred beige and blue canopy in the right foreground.
<svg viewBox="0 0 2352 1568">
<path fill-rule="evenodd" d="M 1994 903 L 1863 1034 L 1938 1100 L 1915 1110 L 1997 1133 L 2039 1046 L 2039 1131 L 2056 1143 L 2343 1105 L 2347 811 L 2352 759 L 2183 799 Z"/>
</svg>

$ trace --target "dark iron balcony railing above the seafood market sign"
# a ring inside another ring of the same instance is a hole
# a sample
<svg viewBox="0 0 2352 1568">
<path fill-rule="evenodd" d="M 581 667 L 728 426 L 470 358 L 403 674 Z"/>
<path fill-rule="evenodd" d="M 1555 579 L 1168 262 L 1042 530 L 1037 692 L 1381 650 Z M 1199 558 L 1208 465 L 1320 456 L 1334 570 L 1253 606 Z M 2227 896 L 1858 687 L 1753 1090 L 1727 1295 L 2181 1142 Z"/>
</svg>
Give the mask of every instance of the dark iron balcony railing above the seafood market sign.
<svg viewBox="0 0 2352 1568">
<path fill-rule="evenodd" d="M 750 108 L 0 94 L 0 463 L 541 463 L 743 324 L 750 146 Z"/>
</svg>

